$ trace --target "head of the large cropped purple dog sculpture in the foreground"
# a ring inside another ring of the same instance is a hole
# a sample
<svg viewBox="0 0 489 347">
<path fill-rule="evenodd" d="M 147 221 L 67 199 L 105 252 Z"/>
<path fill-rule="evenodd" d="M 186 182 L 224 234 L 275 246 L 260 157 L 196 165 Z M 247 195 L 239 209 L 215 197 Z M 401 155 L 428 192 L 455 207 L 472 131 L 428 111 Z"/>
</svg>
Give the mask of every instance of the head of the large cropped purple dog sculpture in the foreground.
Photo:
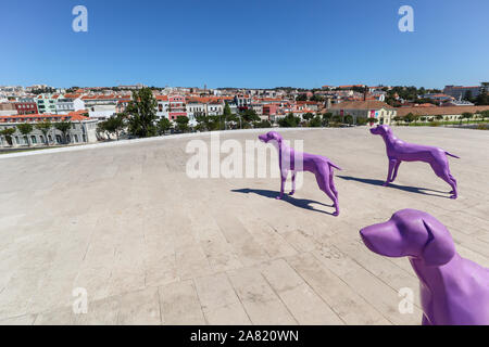
<svg viewBox="0 0 489 347">
<path fill-rule="evenodd" d="M 455 255 L 447 228 L 432 216 L 416 209 L 402 209 L 384 222 L 360 231 L 365 245 L 388 257 L 412 257 L 426 266 L 442 266 Z"/>
</svg>

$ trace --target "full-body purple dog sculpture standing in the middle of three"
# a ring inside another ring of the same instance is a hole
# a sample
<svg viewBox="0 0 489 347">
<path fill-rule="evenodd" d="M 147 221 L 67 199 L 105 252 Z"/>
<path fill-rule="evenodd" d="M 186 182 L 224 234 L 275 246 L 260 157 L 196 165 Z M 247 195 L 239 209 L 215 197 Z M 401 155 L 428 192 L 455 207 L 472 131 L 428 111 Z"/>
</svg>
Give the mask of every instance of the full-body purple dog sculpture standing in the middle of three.
<svg viewBox="0 0 489 347">
<path fill-rule="evenodd" d="M 268 143 L 271 142 L 278 151 L 278 162 L 280 168 L 280 195 L 277 198 L 284 197 L 284 184 L 287 180 L 287 175 L 292 171 L 292 191 L 289 195 L 293 195 L 296 192 L 296 172 L 309 171 L 316 176 L 317 184 L 319 189 L 329 196 L 335 205 L 334 216 L 339 215 L 338 206 L 338 192 L 335 188 L 334 171 L 336 168 L 341 170 L 338 166 L 333 164 L 327 157 L 321 155 L 314 155 L 309 153 L 294 152 L 284 143 L 283 137 L 276 131 L 268 131 L 267 133 L 259 136 L 260 141 Z M 300 158 L 302 163 L 296 163 Z M 302 165 L 300 165 L 302 164 Z"/>
</svg>

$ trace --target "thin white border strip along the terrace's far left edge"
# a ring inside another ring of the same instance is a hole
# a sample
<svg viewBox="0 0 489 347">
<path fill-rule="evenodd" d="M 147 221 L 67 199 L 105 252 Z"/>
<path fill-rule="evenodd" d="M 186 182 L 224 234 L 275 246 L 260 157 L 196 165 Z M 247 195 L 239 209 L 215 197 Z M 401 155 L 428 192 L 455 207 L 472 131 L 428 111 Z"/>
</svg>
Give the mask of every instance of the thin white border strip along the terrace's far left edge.
<svg viewBox="0 0 489 347">
<path fill-rule="evenodd" d="M 233 134 L 233 133 L 247 133 L 247 132 L 266 132 L 266 131 L 297 131 L 297 130 L 318 130 L 324 128 L 258 128 L 258 129 L 239 129 L 239 130 L 217 130 L 217 131 L 203 131 L 203 132 L 190 132 L 190 133 L 176 133 L 176 134 L 166 134 L 161 137 L 152 137 L 152 138 L 143 138 L 143 139 L 134 139 L 134 140 L 120 140 L 120 141 L 111 141 L 111 142 L 99 142 L 99 143 L 90 143 L 90 144 L 80 144 L 74 146 L 65 146 L 58 149 L 45 149 L 45 150 L 33 150 L 26 152 L 18 153 L 10 153 L 10 154 L 0 154 L 0 159 L 15 158 L 22 156 L 30 156 L 30 155 L 40 155 L 40 154 L 53 154 L 53 153 L 64 153 L 64 152 L 75 152 L 83 150 L 95 150 L 102 147 L 112 147 L 116 145 L 127 145 L 127 144 L 136 144 L 142 142 L 156 142 L 163 140 L 172 140 L 172 139 L 185 139 L 185 138 L 195 138 L 195 137 L 210 137 L 211 133 L 220 133 L 220 134 Z"/>
</svg>

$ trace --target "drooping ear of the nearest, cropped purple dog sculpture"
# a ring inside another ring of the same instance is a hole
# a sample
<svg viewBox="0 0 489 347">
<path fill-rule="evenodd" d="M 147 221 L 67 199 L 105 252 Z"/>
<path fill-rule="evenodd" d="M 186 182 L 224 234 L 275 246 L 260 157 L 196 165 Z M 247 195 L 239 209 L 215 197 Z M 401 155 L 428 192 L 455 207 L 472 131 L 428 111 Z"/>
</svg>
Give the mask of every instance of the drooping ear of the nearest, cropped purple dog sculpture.
<svg viewBox="0 0 489 347">
<path fill-rule="evenodd" d="M 428 267 L 442 266 L 455 256 L 455 245 L 450 232 L 441 223 L 434 223 L 423 219 L 428 232 L 428 243 L 423 249 L 423 260 Z"/>
</svg>

